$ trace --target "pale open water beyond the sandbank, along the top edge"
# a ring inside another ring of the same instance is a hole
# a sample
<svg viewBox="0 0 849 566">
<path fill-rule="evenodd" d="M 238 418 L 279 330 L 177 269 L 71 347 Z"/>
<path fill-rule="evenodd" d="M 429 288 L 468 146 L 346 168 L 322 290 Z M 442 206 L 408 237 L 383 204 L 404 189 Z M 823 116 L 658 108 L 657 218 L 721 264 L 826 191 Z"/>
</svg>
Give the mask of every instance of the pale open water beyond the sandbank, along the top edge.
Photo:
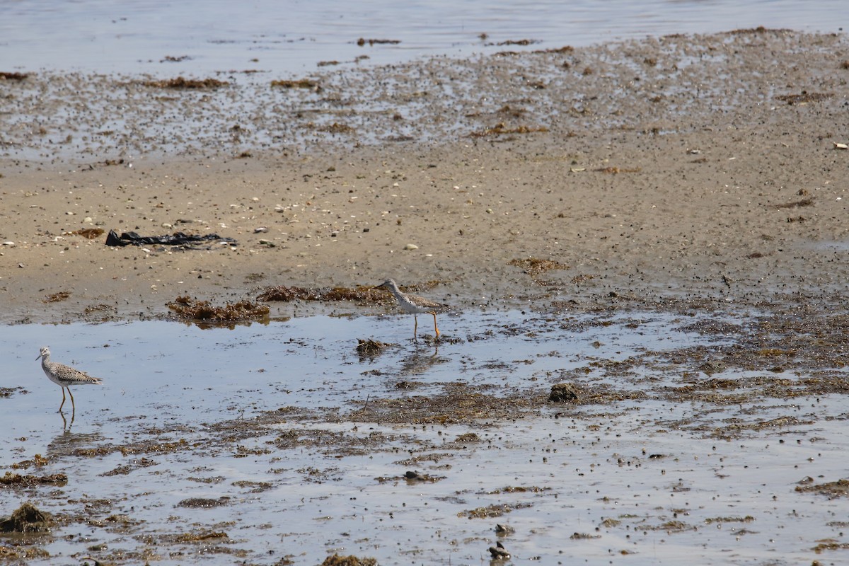
<svg viewBox="0 0 849 566">
<path fill-rule="evenodd" d="M 255 69 L 302 74 L 319 62 L 396 64 L 424 56 L 465 58 L 505 49 L 587 46 L 673 33 L 715 33 L 763 25 L 839 31 L 841 0 L 653 0 L 599 2 L 389 2 L 351 6 L 329 0 L 233 4 L 139 0 L 3 3 L 0 60 L 5 70 L 207 74 Z M 481 38 L 486 33 L 486 38 Z M 359 38 L 395 44 L 357 46 Z M 172 60 L 172 59 L 177 60 Z"/>
</svg>

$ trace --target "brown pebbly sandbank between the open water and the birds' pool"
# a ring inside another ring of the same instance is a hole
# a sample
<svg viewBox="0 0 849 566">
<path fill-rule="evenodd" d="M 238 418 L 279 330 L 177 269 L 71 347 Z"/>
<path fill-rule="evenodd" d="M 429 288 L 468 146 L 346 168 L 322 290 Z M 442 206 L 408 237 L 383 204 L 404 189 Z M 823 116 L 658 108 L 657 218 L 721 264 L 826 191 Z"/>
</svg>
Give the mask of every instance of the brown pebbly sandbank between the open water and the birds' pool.
<svg viewBox="0 0 849 566">
<path fill-rule="evenodd" d="M 0 322 L 387 277 L 464 308 L 846 291 L 846 36 L 201 79 L 0 81 Z M 112 247 L 110 230 L 236 244 Z"/>
</svg>

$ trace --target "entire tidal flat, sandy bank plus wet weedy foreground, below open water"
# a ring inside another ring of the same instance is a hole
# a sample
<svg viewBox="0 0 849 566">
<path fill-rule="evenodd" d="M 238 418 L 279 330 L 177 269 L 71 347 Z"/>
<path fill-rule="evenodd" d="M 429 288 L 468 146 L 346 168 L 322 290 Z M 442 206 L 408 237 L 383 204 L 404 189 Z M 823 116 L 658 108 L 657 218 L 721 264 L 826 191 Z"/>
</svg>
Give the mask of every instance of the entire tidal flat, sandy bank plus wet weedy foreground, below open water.
<svg viewBox="0 0 849 566">
<path fill-rule="evenodd" d="M 132 321 L 7 326 L 0 446 L 28 471 L 0 522 L 65 530 L 9 559 L 473 563 L 498 538 L 834 560 L 847 47 L 755 29 L 295 79 L 0 74 L 0 323 Z M 459 311 L 442 336 L 144 321 L 268 289 L 340 288 L 270 317 L 374 313 L 357 297 L 387 277 Z M 106 384 L 70 422 L 33 361 L 69 329 Z"/>
</svg>

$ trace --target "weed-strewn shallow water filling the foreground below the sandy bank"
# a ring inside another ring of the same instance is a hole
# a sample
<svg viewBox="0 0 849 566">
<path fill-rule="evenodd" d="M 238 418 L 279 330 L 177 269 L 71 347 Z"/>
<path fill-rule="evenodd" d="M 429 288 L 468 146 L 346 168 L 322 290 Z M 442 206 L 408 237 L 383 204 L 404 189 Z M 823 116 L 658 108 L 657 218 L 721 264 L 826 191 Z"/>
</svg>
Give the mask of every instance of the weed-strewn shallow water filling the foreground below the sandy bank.
<svg viewBox="0 0 849 566">
<path fill-rule="evenodd" d="M 412 321 L 394 315 L 233 330 L 177 322 L 5 327 L 2 386 L 25 392 L 0 397 L 0 472 L 41 454 L 46 465 L 14 471 L 67 474 L 68 483 L 4 487 L 0 508 L 7 514 L 31 501 L 62 518 L 39 541 L 52 558 L 31 563 L 91 554 L 129 563 L 288 556 L 315 564 L 339 552 L 384 564 L 471 564 L 488 560 L 497 539 L 513 553 L 509 563 L 840 557 L 812 549 L 843 541 L 843 506 L 794 488 L 806 476 L 820 483 L 845 472 L 841 397 L 668 401 L 663 390 L 693 383 L 672 357 L 734 342 L 695 331 L 703 318 L 464 312 L 441 317 L 438 347 L 425 337 L 425 317 L 413 342 Z M 361 359 L 357 338 L 396 347 Z M 41 345 L 55 361 L 104 378 L 103 387 L 76 388 L 70 426 L 69 412 L 65 421 L 55 412 L 58 388 L 35 361 Z M 604 370 L 635 359 L 636 367 Z M 365 416 L 369 404 L 413 403 L 457 384 L 530 399 L 576 368 L 587 370 L 577 373 L 584 385 L 649 395 L 606 405 L 543 401 L 513 418 L 444 424 Z M 722 434 L 779 417 L 780 425 L 734 440 Z M 121 450 L 86 452 L 110 446 Z M 403 479 L 408 470 L 429 480 Z M 185 507 L 190 498 L 221 505 Z M 497 537 L 497 523 L 514 533 Z"/>
</svg>

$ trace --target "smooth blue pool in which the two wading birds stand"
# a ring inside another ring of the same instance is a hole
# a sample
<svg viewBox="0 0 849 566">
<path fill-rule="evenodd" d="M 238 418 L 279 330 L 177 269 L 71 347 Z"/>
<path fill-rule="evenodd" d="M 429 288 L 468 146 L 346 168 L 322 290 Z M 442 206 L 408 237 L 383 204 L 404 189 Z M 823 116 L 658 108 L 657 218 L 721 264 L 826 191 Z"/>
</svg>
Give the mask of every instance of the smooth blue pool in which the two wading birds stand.
<svg viewBox="0 0 849 566">
<path fill-rule="evenodd" d="M 592 356 L 617 359 L 634 350 L 681 347 L 689 339 L 686 334 L 655 332 L 668 322 L 649 315 L 639 321 L 638 332 L 621 333 L 610 324 L 580 338 L 568 326 L 581 322 L 579 317 L 552 319 L 550 326 L 543 324 L 546 317 L 519 311 L 441 318 L 443 330 L 462 324 L 463 330 L 455 328 L 461 334 L 450 330 L 443 334 L 443 338 L 463 340 L 461 344 L 413 343 L 413 328 L 408 324 L 412 321 L 394 316 L 295 317 L 232 330 L 148 321 L 18 325 L 0 332 L 6 334 L 3 359 L 8 363 L 7 375 L 20 376 L 7 386 L 20 384 L 29 391 L 14 403 L 20 410 L 15 419 L 15 427 L 23 427 L 20 432 L 42 426 L 43 415 L 36 416 L 39 407 L 56 404 L 58 408 L 61 401 L 58 388 L 46 381 L 39 362 L 30 363 L 42 345 L 50 347 L 53 361 L 79 367 L 106 381 L 104 388 L 80 389 L 81 412 L 122 419 L 137 417 L 142 411 L 146 419 L 154 421 L 197 422 L 278 406 L 338 407 L 365 400 L 369 393 L 384 390 L 380 379 L 363 378 L 363 372 L 369 370 L 428 383 L 462 378 L 469 384 L 503 384 L 514 378 L 515 361 L 527 356 L 532 359 L 522 365 L 528 367 L 531 378 L 585 363 L 588 356 L 582 352 L 588 342 L 599 342 L 590 348 Z M 429 319 L 423 316 L 419 321 L 419 333 L 425 333 Z M 358 338 L 399 345 L 374 361 L 361 361 L 356 351 Z M 502 372 L 487 367 L 502 363 Z M 192 400 L 190 415 L 183 404 L 187 398 Z"/>
</svg>

